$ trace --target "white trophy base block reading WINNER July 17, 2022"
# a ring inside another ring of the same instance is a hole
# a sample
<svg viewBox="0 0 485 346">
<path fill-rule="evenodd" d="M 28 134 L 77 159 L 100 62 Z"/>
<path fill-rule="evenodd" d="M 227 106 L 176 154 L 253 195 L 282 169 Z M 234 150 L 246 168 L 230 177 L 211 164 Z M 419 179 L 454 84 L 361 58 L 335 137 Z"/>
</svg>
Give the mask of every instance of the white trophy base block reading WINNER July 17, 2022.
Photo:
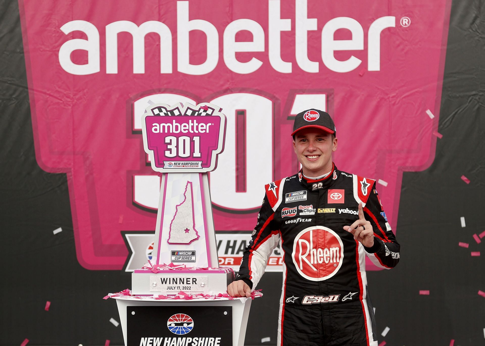
<svg viewBox="0 0 485 346">
<path fill-rule="evenodd" d="M 186 294 L 217 295 L 227 292 L 234 272 L 220 270 L 137 269 L 131 274 L 131 294 L 135 296 Z"/>
</svg>

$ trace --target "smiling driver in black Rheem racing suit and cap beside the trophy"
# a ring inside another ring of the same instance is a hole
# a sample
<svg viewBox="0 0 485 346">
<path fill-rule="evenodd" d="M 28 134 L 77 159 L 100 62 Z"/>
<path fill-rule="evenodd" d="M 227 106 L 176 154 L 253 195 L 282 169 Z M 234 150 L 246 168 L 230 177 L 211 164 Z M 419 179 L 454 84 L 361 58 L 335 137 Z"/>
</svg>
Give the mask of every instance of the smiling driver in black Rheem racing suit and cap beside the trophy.
<svg viewBox="0 0 485 346">
<path fill-rule="evenodd" d="M 281 239 L 276 345 L 377 346 L 365 255 L 390 269 L 399 261 L 399 244 L 375 181 L 333 164 L 337 138 L 328 113 L 299 113 L 291 135 L 302 169 L 265 186 L 258 223 L 227 292 L 249 297 Z"/>
</svg>

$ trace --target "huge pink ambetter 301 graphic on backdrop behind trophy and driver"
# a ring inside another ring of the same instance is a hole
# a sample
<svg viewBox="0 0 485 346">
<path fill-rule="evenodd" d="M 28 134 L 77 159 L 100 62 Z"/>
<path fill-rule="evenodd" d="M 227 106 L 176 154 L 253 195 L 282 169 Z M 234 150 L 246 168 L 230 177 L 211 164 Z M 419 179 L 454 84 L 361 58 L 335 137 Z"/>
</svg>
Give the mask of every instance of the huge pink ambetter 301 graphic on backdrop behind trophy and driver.
<svg viewBox="0 0 485 346">
<path fill-rule="evenodd" d="M 316 107 L 335 120 L 336 165 L 376 179 L 405 232 L 403 172 L 435 157 L 449 3 L 19 0 L 36 160 L 67 175 L 79 263 L 119 270 L 122 232 L 156 228 L 141 121 L 157 103 L 227 117 L 216 231 L 254 228 L 264 184 L 298 170 L 294 115 Z"/>
</svg>

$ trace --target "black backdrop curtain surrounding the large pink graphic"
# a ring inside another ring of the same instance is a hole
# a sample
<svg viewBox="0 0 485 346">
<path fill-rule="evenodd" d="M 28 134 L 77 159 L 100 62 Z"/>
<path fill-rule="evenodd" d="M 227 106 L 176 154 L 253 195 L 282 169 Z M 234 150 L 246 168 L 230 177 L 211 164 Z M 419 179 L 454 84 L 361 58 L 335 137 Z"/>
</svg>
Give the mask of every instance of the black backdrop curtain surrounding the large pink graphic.
<svg viewBox="0 0 485 346">
<path fill-rule="evenodd" d="M 404 173 L 399 210 L 401 262 L 368 272 L 379 343 L 485 345 L 485 9 L 454 0 L 436 158 Z M 471 181 L 468 185 L 460 177 Z M 466 227 L 460 225 L 464 216 Z M 63 232 L 52 235 L 62 227 Z M 468 242 L 469 248 L 458 246 Z M 482 256 L 470 256 L 481 251 Z M 34 156 L 22 34 L 16 1 L 0 1 L 0 345 L 122 345 L 108 292 L 130 287 L 120 271 L 88 271 L 77 259 L 65 174 Z M 35 260 L 32 260 L 35 258 Z M 275 345 L 280 273 L 266 273 L 253 301 L 246 345 Z M 430 295 L 419 295 L 420 290 Z M 51 301 L 45 311 L 46 301 Z M 389 327 L 385 337 L 380 333 Z"/>
</svg>

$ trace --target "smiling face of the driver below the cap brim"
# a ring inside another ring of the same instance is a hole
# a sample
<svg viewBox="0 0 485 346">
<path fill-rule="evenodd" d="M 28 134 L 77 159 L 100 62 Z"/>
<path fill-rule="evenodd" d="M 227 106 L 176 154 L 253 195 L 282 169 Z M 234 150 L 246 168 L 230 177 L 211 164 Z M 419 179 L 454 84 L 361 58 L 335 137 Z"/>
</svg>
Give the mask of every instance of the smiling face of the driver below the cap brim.
<svg viewBox="0 0 485 346">
<path fill-rule="evenodd" d="M 303 174 L 318 177 L 332 169 L 332 152 L 337 150 L 337 138 L 332 140 L 328 132 L 307 128 L 295 134 L 293 149 L 303 166 Z"/>
</svg>

